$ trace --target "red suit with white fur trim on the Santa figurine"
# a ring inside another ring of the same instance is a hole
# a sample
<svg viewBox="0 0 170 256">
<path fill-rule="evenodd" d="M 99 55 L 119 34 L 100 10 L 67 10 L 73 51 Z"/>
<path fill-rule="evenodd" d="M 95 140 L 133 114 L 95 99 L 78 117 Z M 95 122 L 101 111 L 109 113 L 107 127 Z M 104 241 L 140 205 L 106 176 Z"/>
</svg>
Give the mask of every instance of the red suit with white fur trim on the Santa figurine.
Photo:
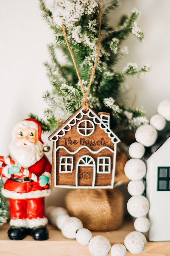
<svg viewBox="0 0 170 256">
<path fill-rule="evenodd" d="M 24 181 L 25 176 L 21 172 L 9 175 L 7 170 L 8 167 L 3 168 L 2 175 L 8 179 L 4 184 L 2 193 L 5 197 L 10 198 L 10 225 L 33 228 L 47 224 L 44 196 L 49 195 L 51 189 L 43 188 L 38 182 L 32 180 Z M 46 156 L 28 167 L 28 170 L 38 177 L 42 174 L 49 178 L 51 176 L 51 164 Z"/>
</svg>

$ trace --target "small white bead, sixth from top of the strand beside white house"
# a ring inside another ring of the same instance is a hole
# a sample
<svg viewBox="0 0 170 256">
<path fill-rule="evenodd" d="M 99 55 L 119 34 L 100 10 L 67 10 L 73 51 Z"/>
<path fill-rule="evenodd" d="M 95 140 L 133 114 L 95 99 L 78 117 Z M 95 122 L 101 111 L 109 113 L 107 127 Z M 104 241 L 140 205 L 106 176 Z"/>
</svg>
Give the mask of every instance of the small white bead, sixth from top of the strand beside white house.
<svg viewBox="0 0 170 256">
<path fill-rule="evenodd" d="M 131 180 L 127 190 L 131 196 L 141 195 L 144 191 L 144 184 L 141 180 Z"/>
</svg>

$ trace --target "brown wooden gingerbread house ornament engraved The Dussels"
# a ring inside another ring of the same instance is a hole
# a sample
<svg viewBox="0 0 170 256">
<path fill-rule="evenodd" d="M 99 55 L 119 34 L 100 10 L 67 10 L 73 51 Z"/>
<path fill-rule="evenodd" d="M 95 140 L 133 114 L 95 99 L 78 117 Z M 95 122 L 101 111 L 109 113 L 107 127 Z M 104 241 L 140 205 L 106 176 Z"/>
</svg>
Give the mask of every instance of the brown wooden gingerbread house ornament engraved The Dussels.
<svg viewBox="0 0 170 256">
<path fill-rule="evenodd" d="M 52 187 L 113 188 L 119 138 L 109 114 L 81 107 L 50 135 Z"/>
</svg>

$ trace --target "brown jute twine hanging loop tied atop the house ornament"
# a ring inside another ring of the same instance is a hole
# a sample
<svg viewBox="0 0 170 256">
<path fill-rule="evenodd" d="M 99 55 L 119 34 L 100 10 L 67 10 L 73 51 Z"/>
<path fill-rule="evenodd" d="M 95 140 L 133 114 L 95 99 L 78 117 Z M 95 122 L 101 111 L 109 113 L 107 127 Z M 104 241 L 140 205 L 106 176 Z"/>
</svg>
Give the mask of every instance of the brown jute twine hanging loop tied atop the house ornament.
<svg viewBox="0 0 170 256">
<path fill-rule="evenodd" d="M 97 66 L 98 57 L 99 57 L 99 51 L 100 51 L 100 32 L 101 32 L 101 16 L 102 16 L 100 4 L 98 4 L 98 8 L 99 8 L 99 29 L 98 29 L 98 49 L 97 49 L 97 57 L 96 57 L 96 60 L 95 60 L 94 67 L 93 67 L 93 69 L 92 69 L 92 74 L 91 74 L 91 77 L 90 77 L 90 80 L 89 80 L 89 84 L 88 84 L 86 93 L 84 92 L 83 84 L 82 84 L 82 81 L 81 81 L 81 77 L 80 77 L 80 74 L 79 74 L 79 71 L 78 71 L 76 62 L 75 62 L 75 58 L 74 58 L 73 52 L 72 52 L 72 50 L 71 50 L 71 48 L 70 48 L 70 45 L 69 45 L 69 42 L 68 42 L 68 39 L 67 39 L 67 34 L 66 34 L 66 31 L 65 31 L 65 28 L 64 28 L 64 24 L 62 24 L 62 30 L 63 30 L 64 38 L 65 38 L 65 40 L 66 40 L 67 47 L 68 47 L 69 52 L 70 52 L 70 55 L 71 55 L 71 57 L 72 57 L 72 61 L 73 61 L 73 63 L 74 63 L 75 70 L 76 70 L 76 73 L 77 73 L 77 76 L 78 76 L 78 81 L 79 81 L 79 83 L 80 83 L 81 90 L 82 90 L 82 93 L 83 93 L 83 97 L 84 97 L 84 98 L 83 98 L 83 100 L 82 100 L 82 106 L 84 107 L 84 111 L 85 111 L 85 112 L 87 112 L 87 111 L 89 110 L 89 100 L 87 99 L 87 97 L 88 97 L 88 95 L 89 95 L 90 86 L 91 86 L 91 84 L 92 84 L 93 77 L 94 77 L 94 74 L 95 74 L 95 69 L 96 69 L 96 66 Z"/>
</svg>

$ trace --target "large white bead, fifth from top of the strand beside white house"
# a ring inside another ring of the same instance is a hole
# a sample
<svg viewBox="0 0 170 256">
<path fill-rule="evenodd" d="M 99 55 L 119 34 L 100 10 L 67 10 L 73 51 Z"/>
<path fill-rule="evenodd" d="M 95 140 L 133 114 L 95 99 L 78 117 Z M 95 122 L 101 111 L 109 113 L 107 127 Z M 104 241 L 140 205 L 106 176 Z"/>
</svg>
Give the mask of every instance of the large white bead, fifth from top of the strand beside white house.
<svg viewBox="0 0 170 256">
<path fill-rule="evenodd" d="M 124 167 L 128 179 L 142 179 L 146 173 L 146 165 L 141 159 L 129 159 Z"/>
</svg>

